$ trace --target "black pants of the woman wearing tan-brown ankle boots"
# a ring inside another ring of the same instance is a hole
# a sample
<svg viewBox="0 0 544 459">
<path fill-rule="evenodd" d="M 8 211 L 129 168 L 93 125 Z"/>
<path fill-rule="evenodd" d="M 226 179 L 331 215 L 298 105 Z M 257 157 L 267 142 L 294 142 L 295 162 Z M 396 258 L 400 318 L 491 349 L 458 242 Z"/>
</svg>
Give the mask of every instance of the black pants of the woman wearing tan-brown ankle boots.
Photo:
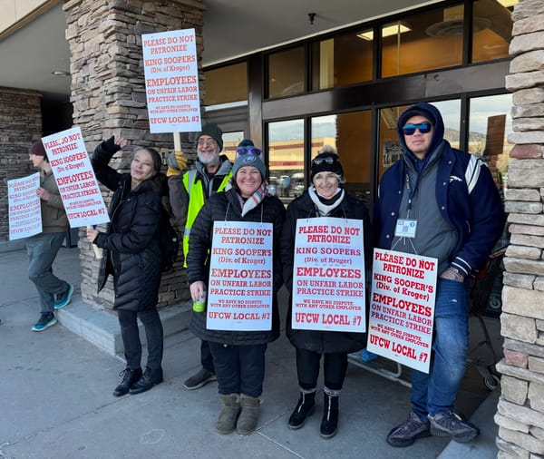
<svg viewBox="0 0 544 459">
<path fill-rule="evenodd" d="M 209 342 L 213 354 L 219 394 L 260 396 L 265 379 L 267 344 L 228 346 Z"/>
</svg>

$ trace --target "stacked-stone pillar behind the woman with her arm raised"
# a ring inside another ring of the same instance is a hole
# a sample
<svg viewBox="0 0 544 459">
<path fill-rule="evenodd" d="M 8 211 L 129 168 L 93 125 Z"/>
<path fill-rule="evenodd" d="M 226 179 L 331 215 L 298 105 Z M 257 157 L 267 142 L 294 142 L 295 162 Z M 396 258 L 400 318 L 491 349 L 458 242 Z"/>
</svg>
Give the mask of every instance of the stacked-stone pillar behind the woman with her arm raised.
<svg viewBox="0 0 544 459">
<path fill-rule="evenodd" d="M 93 151 L 102 140 L 117 135 L 128 139 L 130 145 L 152 146 L 161 154 L 172 151 L 171 133 L 151 134 L 149 131 L 141 34 L 195 28 L 200 56 L 203 50 L 202 2 L 67 0 L 63 8 L 71 53 L 73 124 L 81 127 L 87 150 Z M 202 78 L 199 80 L 202 82 Z M 182 134 L 181 149 L 189 152 L 189 158 L 194 158 L 195 153 L 192 141 L 189 134 Z M 130 153 L 130 148 L 117 153 L 112 161 L 113 167 L 127 171 Z M 102 191 L 106 203 L 109 203 L 110 192 Z M 79 247 L 83 299 L 112 307 L 112 281 L 100 295 L 96 291 L 98 261 L 94 259 L 83 229 L 80 230 Z M 174 273 L 162 277 L 159 306 L 189 299 L 181 261 L 175 268 Z"/>
</svg>

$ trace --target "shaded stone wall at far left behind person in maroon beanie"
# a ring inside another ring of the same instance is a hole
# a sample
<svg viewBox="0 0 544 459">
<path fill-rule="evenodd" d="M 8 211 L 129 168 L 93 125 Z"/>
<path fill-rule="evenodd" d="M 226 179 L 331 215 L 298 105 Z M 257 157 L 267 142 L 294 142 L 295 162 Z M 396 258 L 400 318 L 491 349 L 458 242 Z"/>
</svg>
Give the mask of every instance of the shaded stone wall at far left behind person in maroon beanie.
<svg viewBox="0 0 544 459">
<path fill-rule="evenodd" d="M 9 242 L 6 181 L 35 172 L 28 151 L 42 137 L 41 99 L 34 91 L 0 88 L 0 246 L 5 249 L 23 247 Z"/>
</svg>

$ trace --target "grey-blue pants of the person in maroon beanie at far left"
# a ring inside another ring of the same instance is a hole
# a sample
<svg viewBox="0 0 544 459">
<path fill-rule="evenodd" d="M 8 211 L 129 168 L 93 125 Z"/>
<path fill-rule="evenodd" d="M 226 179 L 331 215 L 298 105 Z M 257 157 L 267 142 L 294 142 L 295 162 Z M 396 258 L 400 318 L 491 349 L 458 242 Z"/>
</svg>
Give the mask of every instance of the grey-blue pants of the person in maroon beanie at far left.
<svg viewBox="0 0 544 459">
<path fill-rule="evenodd" d="M 65 280 L 53 274 L 53 261 L 63 245 L 65 233 L 40 233 L 24 241 L 28 255 L 28 278 L 40 296 L 41 312 L 53 312 L 54 296 L 68 289 Z"/>
</svg>

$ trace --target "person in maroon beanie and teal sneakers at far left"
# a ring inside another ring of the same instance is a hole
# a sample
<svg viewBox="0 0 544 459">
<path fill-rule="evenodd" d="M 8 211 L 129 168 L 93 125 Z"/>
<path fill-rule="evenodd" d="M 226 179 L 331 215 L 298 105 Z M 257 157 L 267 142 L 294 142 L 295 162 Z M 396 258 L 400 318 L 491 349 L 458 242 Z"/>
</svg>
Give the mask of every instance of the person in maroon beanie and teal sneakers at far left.
<svg viewBox="0 0 544 459">
<path fill-rule="evenodd" d="M 69 229 L 63 200 L 53 177 L 44 144 L 35 142 L 30 149 L 30 161 L 40 170 L 40 187 L 36 194 L 42 208 L 42 232 L 25 240 L 28 255 L 28 277 L 33 281 L 40 296 L 40 318 L 33 331 L 56 324 L 54 309 L 64 308 L 72 298 L 73 286 L 53 274 L 53 261 Z"/>
</svg>

